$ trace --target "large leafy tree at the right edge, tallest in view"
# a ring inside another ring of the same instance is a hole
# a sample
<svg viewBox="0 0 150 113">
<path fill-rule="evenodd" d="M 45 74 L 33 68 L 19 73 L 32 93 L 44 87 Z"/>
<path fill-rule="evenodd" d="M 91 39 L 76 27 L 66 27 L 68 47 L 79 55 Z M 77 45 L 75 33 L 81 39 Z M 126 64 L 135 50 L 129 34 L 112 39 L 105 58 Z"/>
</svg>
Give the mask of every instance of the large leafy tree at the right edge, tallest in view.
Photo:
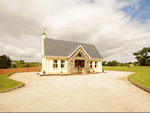
<svg viewBox="0 0 150 113">
<path fill-rule="evenodd" d="M 150 53 L 150 47 L 143 47 L 143 49 L 141 51 L 135 52 L 133 53 L 134 56 L 136 56 L 135 58 L 137 59 L 138 62 L 140 62 L 141 66 L 145 66 L 147 65 L 147 62 L 149 62 L 150 60 L 150 55 L 148 55 Z"/>
</svg>

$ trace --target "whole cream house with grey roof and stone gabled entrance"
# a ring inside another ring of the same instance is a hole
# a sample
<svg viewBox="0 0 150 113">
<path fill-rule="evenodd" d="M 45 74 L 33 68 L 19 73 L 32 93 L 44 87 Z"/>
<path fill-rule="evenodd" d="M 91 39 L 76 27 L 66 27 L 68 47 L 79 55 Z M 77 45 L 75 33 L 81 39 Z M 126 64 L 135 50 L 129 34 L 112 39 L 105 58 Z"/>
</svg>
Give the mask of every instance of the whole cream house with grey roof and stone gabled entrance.
<svg viewBox="0 0 150 113">
<path fill-rule="evenodd" d="M 102 72 L 102 56 L 94 45 L 51 39 L 42 34 L 42 72 L 73 74 L 91 69 Z"/>
</svg>

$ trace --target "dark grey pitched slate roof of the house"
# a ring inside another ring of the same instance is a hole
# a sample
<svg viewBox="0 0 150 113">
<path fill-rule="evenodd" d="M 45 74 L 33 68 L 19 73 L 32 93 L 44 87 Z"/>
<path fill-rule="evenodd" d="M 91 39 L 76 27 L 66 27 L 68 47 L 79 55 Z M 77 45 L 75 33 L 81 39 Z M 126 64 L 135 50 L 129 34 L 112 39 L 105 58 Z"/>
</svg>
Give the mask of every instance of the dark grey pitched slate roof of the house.
<svg viewBox="0 0 150 113">
<path fill-rule="evenodd" d="M 68 57 L 79 45 L 84 48 L 91 58 L 103 59 L 94 45 L 51 38 L 44 39 L 44 53 L 47 56 Z"/>
</svg>

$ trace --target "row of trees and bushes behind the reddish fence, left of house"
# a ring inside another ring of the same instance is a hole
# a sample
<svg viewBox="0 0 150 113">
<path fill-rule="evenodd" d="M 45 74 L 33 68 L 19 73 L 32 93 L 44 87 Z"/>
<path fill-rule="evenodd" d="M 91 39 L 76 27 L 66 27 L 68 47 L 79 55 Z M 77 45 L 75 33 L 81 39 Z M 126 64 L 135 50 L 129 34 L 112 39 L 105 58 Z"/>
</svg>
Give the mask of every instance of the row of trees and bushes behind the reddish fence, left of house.
<svg viewBox="0 0 150 113">
<path fill-rule="evenodd" d="M 41 66 L 42 63 L 36 62 L 24 62 L 24 60 L 13 61 L 9 56 L 2 55 L 0 56 L 0 69 L 7 68 L 23 68 L 23 67 L 37 67 Z"/>
</svg>

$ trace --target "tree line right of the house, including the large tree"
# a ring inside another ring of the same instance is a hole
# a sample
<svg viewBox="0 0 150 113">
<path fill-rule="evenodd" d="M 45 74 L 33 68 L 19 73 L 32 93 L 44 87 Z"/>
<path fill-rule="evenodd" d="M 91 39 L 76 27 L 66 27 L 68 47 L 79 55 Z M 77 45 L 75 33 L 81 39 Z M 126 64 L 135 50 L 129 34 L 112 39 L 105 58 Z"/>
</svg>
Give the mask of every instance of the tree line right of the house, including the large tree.
<svg viewBox="0 0 150 113">
<path fill-rule="evenodd" d="M 133 53 L 137 62 L 119 63 L 116 60 L 103 61 L 103 66 L 129 66 L 134 64 L 135 66 L 150 66 L 150 47 L 143 47 L 142 50 Z"/>
</svg>

